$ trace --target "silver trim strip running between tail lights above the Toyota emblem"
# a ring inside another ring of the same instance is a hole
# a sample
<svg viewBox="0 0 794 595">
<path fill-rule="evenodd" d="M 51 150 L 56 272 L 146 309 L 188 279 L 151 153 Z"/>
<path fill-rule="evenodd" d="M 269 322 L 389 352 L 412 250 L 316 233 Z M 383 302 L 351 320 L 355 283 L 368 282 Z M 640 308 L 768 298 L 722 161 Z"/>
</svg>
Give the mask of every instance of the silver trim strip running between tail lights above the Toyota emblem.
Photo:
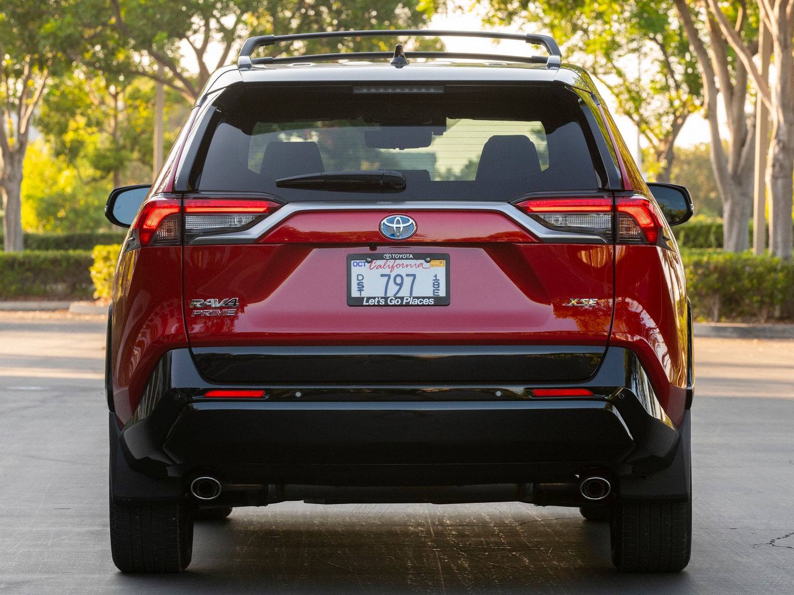
<svg viewBox="0 0 794 595">
<path fill-rule="evenodd" d="M 569 244 L 607 244 L 600 236 L 582 233 L 557 232 L 549 229 L 523 213 L 509 202 L 488 201 L 383 201 L 383 202 L 289 202 L 272 215 L 251 228 L 240 232 L 219 233 L 214 236 L 198 236 L 191 245 L 206 244 L 253 244 L 258 238 L 276 228 L 295 213 L 311 211 L 384 211 L 400 214 L 403 211 L 481 211 L 502 213 L 533 236 L 544 242 L 566 242 Z M 374 231 L 377 231 L 375 229 Z M 391 244 L 384 238 L 384 244 Z"/>
</svg>

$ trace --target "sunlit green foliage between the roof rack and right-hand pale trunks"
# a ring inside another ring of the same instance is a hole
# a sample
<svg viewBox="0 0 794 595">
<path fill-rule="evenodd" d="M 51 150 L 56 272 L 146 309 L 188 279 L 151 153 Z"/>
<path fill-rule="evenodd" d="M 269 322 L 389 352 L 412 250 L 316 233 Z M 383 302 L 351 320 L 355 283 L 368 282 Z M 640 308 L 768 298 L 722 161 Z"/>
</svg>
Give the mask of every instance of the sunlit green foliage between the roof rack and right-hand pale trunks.
<svg viewBox="0 0 794 595">
<path fill-rule="evenodd" d="M 489 0 L 492 24 L 530 21 L 550 29 L 565 56 L 615 97 L 650 147 L 650 178 L 669 179 L 673 144 L 699 109 L 702 83 L 672 2 Z"/>
</svg>

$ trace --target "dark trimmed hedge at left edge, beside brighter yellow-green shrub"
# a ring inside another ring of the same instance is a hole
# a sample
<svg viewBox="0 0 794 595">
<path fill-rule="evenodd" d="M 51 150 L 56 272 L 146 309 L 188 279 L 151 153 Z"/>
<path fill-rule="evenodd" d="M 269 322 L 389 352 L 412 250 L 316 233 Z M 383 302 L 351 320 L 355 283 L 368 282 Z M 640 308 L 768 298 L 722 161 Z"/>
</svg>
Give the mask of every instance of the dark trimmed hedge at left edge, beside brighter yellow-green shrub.
<svg viewBox="0 0 794 595">
<path fill-rule="evenodd" d="M 90 299 L 92 262 L 87 250 L 0 252 L 0 299 Z"/>
</svg>

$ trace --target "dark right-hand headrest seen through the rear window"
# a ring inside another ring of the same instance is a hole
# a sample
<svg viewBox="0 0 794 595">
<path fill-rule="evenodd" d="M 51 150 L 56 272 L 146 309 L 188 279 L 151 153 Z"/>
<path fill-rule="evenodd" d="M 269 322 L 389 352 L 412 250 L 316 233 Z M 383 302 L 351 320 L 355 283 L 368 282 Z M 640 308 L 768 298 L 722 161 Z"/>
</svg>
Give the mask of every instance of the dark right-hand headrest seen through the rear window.
<svg viewBox="0 0 794 595">
<path fill-rule="evenodd" d="M 527 178 L 541 172 L 534 143 L 522 134 L 491 136 L 477 165 L 477 180 Z"/>
</svg>

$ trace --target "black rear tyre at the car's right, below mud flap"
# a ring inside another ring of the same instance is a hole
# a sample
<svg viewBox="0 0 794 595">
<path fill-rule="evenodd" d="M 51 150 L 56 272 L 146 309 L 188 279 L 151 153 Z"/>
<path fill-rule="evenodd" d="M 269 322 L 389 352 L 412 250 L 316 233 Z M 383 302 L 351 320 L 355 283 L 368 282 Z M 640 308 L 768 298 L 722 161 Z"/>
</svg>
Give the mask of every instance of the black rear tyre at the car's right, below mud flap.
<svg viewBox="0 0 794 595">
<path fill-rule="evenodd" d="M 680 572 L 692 551 L 692 499 L 615 505 L 612 563 L 622 572 Z"/>
</svg>

